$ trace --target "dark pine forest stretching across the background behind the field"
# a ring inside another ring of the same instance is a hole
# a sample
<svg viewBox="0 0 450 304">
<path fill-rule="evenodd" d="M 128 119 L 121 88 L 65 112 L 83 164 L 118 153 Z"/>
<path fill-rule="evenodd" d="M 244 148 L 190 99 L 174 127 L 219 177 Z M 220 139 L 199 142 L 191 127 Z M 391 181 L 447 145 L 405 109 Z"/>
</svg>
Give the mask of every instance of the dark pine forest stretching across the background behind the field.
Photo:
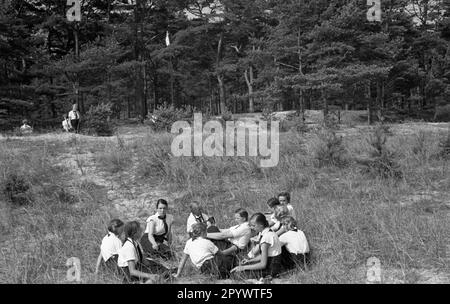
<svg viewBox="0 0 450 304">
<path fill-rule="evenodd" d="M 379 22 L 367 2 L 80 0 L 70 22 L 66 0 L 0 0 L 0 129 L 59 122 L 75 102 L 118 119 L 160 105 L 438 119 L 450 1 L 381 0 Z"/>
</svg>

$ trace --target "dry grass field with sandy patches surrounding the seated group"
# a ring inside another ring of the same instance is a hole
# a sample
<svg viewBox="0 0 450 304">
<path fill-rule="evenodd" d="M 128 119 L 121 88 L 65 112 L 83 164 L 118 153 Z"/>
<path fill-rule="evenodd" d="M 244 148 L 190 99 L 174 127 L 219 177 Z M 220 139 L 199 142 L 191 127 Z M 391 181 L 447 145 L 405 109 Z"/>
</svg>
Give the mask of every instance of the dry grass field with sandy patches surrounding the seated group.
<svg viewBox="0 0 450 304">
<path fill-rule="evenodd" d="M 93 275 L 112 217 L 143 225 L 166 198 L 181 252 L 192 198 L 227 227 L 235 208 L 266 211 L 268 198 L 290 191 L 316 264 L 277 282 L 364 283 L 376 257 L 384 283 L 449 283 L 450 168 L 439 146 L 448 125 L 391 125 L 384 149 L 396 174 L 387 176 L 358 161 L 374 155 L 374 129 L 341 126 L 342 141 L 319 127 L 281 133 L 273 168 L 253 157 L 173 157 L 173 135 L 142 126 L 108 138 L 1 137 L 0 282 L 65 283 L 66 260 L 78 257 L 84 283 L 118 283 Z M 184 276 L 210 282 L 193 267 Z"/>
</svg>

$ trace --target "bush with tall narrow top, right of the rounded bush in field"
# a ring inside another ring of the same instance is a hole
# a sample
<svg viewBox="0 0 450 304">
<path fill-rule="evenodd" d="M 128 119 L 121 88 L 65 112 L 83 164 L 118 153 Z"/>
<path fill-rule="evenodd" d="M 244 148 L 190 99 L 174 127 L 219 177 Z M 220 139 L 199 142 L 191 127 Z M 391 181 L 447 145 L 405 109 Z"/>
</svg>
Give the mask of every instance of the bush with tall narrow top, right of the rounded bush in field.
<svg viewBox="0 0 450 304">
<path fill-rule="evenodd" d="M 370 159 L 359 160 L 365 171 L 382 178 L 401 178 L 402 171 L 395 161 L 395 153 L 386 146 L 389 129 L 386 126 L 378 126 L 374 132 L 366 138 L 371 147 Z"/>
</svg>

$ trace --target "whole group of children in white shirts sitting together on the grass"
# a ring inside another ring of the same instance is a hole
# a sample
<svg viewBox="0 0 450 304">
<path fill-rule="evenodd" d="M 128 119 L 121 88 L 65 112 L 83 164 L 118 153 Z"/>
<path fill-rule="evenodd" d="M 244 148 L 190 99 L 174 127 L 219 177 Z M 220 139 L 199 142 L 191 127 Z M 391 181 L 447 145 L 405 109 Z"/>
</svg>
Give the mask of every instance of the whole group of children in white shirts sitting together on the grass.
<svg viewBox="0 0 450 304">
<path fill-rule="evenodd" d="M 250 218 L 243 208 L 234 211 L 236 225 L 219 229 L 214 217 L 202 212 L 200 204 L 190 205 L 186 232 L 189 239 L 177 268 L 167 268 L 159 259 L 175 257 L 171 250 L 173 216 L 164 199 L 156 202 L 156 213 L 146 221 L 123 223 L 114 219 L 103 238 L 99 268 L 123 277 L 124 282 L 157 282 L 181 277 L 188 259 L 205 275 L 218 279 L 270 279 L 281 273 L 305 268 L 310 250 L 305 234 L 298 228 L 290 194 L 280 193 L 267 202 L 270 213 Z"/>
</svg>

